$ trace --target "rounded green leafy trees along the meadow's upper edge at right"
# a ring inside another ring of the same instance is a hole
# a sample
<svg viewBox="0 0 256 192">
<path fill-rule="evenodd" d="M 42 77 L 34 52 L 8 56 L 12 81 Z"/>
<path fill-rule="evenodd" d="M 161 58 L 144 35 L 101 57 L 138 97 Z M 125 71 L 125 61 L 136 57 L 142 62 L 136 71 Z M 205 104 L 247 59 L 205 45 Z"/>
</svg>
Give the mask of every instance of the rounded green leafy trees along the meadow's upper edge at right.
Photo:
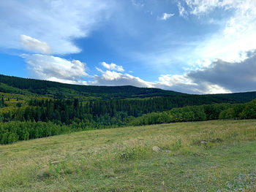
<svg viewBox="0 0 256 192">
<path fill-rule="evenodd" d="M 245 104 L 204 104 L 151 112 L 129 122 L 132 126 L 200 120 L 256 118 L 256 99 Z"/>
</svg>

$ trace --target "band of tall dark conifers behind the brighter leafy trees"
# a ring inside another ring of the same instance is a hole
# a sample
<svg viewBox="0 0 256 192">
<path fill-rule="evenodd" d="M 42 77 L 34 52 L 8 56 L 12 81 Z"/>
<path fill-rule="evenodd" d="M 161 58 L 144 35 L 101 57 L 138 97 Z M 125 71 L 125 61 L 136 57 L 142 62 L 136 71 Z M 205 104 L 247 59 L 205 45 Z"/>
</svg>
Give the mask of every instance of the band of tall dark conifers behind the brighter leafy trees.
<svg viewBox="0 0 256 192">
<path fill-rule="evenodd" d="M 189 105 L 211 104 L 208 97 L 167 96 L 148 99 L 108 99 L 79 101 L 79 99 L 31 99 L 28 104 L 16 104 L 13 110 L 2 112 L 2 121 L 53 121 L 65 123 L 87 122 L 89 124 L 112 124 L 124 121 L 124 118 L 140 117 L 151 112 L 162 112 Z M 113 120 L 114 119 L 114 120 Z M 103 120 L 103 122 L 101 121 Z M 93 126 L 93 125 L 91 125 Z M 94 125 L 95 126 L 95 125 Z"/>
</svg>

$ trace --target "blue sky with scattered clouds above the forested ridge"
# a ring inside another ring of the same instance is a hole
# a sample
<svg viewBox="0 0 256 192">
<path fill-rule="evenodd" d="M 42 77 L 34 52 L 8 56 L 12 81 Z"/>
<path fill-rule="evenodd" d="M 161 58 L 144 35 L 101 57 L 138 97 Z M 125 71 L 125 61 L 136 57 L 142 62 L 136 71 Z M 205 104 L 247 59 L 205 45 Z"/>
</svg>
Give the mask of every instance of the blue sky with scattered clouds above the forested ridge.
<svg viewBox="0 0 256 192">
<path fill-rule="evenodd" d="M 256 91 L 256 0 L 8 0 L 0 28 L 0 74 Z"/>
</svg>

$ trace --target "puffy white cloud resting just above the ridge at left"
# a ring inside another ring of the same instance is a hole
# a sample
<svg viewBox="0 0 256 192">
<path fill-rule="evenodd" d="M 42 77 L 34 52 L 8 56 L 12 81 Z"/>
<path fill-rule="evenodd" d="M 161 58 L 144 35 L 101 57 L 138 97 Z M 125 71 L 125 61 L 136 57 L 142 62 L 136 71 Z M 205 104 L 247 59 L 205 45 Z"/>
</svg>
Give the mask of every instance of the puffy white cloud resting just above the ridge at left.
<svg viewBox="0 0 256 192">
<path fill-rule="evenodd" d="M 86 85 L 83 81 L 83 77 L 89 77 L 86 73 L 86 64 L 78 60 L 68 61 L 64 58 L 41 54 L 22 56 L 28 64 L 32 77 Z"/>
</svg>

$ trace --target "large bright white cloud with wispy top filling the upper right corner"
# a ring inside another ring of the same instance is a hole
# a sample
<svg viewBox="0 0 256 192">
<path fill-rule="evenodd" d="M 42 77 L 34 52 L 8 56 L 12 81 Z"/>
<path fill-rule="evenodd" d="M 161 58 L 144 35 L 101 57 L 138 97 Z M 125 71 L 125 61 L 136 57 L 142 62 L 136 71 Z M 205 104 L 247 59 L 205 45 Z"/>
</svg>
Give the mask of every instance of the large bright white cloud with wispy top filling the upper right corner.
<svg viewBox="0 0 256 192">
<path fill-rule="evenodd" d="M 246 52 L 256 49 L 256 1 L 184 0 L 178 1 L 177 7 L 183 17 L 195 15 L 200 19 L 203 15 L 206 16 L 202 17 L 204 20 L 219 26 L 216 33 L 195 42 L 196 46 L 189 50 L 190 58 L 195 58 L 195 61 L 190 64 L 195 66 L 197 61 L 215 59 L 241 62 L 248 58 Z M 220 10 L 229 16 L 213 18 Z"/>
</svg>

